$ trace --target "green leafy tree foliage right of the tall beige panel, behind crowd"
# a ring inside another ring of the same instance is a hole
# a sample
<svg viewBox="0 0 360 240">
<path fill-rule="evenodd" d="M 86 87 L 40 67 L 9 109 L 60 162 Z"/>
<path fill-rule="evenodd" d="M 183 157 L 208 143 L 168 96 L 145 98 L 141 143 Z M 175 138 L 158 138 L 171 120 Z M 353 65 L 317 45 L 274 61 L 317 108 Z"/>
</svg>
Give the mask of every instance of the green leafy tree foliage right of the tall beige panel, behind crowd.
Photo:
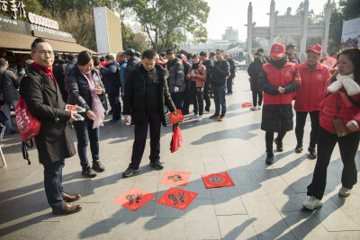
<svg viewBox="0 0 360 240">
<path fill-rule="evenodd" d="M 151 46 L 155 50 L 175 47 L 175 43 L 186 40 L 178 27 L 193 34 L 195 42 L 206 42 L 207 31 L 203 23 L 207 22 L 210 7 L 204 0 L 123 0 L 139 20 L 139 24 L 148 34 Z"/>
</svg>

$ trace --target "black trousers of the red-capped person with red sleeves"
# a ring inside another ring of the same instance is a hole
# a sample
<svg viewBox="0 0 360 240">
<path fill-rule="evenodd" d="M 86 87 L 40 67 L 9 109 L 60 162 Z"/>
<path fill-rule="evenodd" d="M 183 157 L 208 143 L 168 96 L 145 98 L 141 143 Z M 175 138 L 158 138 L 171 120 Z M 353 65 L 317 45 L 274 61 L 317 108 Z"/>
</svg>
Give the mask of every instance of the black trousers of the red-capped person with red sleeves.
<svg viewBox="0 0 360 240">
<path fill-rule="evenodd" d="M 306 118 L 308 116 L 308 111 L 296 111 L 296 127 L 295 127 L 295 135 L 298 141 L 298 145 L 302 146 L 302 138 L 303 138 L 303 129 L 305 127 Z M 320 127 L 319 122 L 319 113 L 320 111 L 311 111 L 311 133 L 310 133 L 310 147 L 315 147 L 318 142 L 318 132 Z"/>
</svg>

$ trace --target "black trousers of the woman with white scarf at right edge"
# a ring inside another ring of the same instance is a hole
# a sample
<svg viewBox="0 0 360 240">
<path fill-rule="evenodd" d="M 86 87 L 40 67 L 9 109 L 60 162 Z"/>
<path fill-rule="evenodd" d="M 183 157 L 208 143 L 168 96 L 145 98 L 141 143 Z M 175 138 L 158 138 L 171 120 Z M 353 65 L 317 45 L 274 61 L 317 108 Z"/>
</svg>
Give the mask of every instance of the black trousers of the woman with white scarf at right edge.
<svg viewBox="0 0 360 240">
<path fill-rule="evenodd" d="M 332 151 L 337 143 L 340 149 L 341 160 L 344 164 L 341 183 L 343 187 L 348 189 L 353 188 L 357 182 L 355 156 L 357 148 L 359 147 L 359 140 L 360 132 L 350 133 L 345 137 L 338 138 L 338 135 L 332 134 L 320 127 L 318 136 L 318 160 L 312 175 L 312 182 L 308 186 L 309 196 L 314 196 L 320 200 L 324 196 L 328 165 Z"/>
</svg>

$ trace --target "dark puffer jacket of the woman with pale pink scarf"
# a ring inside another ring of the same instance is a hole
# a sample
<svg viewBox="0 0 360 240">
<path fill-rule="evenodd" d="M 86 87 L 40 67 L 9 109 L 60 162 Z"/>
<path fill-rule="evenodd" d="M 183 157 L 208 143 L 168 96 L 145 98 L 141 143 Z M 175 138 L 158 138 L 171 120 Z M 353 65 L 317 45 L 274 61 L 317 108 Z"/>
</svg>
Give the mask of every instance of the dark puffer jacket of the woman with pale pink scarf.
<svg viewBox="0 0 360 240">
<path fill-rule="evenodd" d="M 100 84 L 103 89 L 103 94 L 105 93 L 105 88 L 103 87 L 103 82 L 99 73 L 95 68 L 91 70 L 93 76 L 94 88 L 97 88 L 97 83 Z M 92 100 L 91 93 L 89 90 L 89 84 L 87 83 L 87 79 L 80 72 L 78 67 L 76 66 L 71 72 L 67 74 L 65 79 L 65 84 L 67 86 L 67 103 L 69 104 L 77 104 L 85 108 L 85 110 L 92 109 Z M 100 96 L 99 96 L 100 97 Z"/>
</svg>

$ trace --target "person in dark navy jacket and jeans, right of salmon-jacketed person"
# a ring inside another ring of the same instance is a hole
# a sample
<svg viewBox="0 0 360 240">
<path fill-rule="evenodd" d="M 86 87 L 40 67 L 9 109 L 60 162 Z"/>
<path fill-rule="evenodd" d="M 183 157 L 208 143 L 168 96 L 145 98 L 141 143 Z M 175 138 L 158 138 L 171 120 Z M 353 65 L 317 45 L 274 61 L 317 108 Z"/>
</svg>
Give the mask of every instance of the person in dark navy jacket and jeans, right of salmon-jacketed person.
<svg viewBox="0 0 360 240">
<path fill-rule="evenodd" d="M 223 59 L 224 51 L 221 49 L 216 50 L 217 61 L 212 68 L 212 89 L 215 102 L 215 114 L 211 119 L 219 119 L 219 121 L 225 120 L 226 113 L 226 100 L 225 100 L 225 84 L 226 78 L 230 73 L 230 66 L 227 60 Z M 221 106 L 221 109 L 220 109 Z M 221 111 L 221 114 L 220 114 Z"/>
</svg>

